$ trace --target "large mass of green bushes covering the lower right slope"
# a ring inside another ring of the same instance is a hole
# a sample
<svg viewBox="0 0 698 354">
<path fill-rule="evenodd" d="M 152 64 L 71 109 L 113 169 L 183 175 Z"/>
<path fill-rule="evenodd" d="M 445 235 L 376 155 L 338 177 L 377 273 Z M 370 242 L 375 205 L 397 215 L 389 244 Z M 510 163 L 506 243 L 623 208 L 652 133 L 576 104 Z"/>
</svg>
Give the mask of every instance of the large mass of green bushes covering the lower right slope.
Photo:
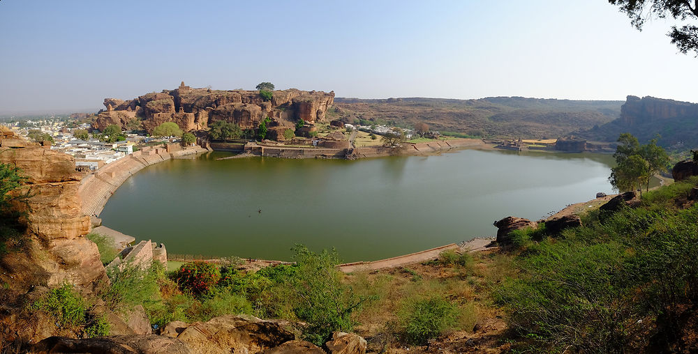
<svg viewBox="0 0 698 354">
<path fill-rule="evenodd" d="M 698 301 L 698 206 L 681 208 L 695 178 L 623 210 L 521 243 L 519 275 L 498 291 L 510 327 L 535 351 L 685 350 Z M 533 232 L 533 231 L 530 231 Z M 529 234 L 530 238 L 530 234 Z"/>
</svg>

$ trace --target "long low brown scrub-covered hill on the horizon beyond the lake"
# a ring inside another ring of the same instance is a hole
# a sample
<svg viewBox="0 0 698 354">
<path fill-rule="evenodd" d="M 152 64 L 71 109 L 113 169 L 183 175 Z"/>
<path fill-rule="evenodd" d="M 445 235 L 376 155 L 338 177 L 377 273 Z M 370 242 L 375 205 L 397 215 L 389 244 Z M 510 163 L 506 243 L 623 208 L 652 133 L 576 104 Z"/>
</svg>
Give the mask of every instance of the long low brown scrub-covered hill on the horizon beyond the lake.
<svg viewBox="0 0 698 354">
<path fill-rule="evenodd" d="M 328 116 L 345 123 L 414 126 L 492 137 L 556 138 L 588 130 L 618 118 L 622 101 L 554 100 L 491 97 L 479 100 L 443 98 L 336 98 Z"/>
</svg>

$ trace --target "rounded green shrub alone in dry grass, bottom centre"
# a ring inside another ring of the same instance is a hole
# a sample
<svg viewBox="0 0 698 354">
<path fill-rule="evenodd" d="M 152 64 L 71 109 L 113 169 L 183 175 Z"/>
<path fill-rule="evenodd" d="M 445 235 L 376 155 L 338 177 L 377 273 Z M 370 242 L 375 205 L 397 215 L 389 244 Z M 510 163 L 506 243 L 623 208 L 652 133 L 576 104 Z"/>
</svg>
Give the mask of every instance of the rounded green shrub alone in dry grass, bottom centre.
<svg viewBox="0 0 698 354">
<path fill-rule="evenodd" d="M 424 345 L 458 324 L 459 310 L 443 298 L 407 300 L 398 312 L 403 339 L 409 344 Z"/>
</svg>

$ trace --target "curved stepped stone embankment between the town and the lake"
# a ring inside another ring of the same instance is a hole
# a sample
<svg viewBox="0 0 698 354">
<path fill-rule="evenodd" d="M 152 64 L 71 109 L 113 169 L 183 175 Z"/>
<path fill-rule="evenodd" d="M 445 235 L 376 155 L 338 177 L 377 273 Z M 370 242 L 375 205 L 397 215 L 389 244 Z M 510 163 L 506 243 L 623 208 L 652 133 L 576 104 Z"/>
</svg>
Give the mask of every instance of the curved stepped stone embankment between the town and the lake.
<svg viewBox="0 0 698 354">
<path fill-rule="evenodd" d="M 170 148 L 149 146 L 131 155 L 107 164 L 105 167 L 94 171 L 82 178 L 77 193 L 82 199 L 82 213 L 98 216 L 109 198 L 124 183 L 128 177 L 151 164 L 170 160 L 184 155 L 205 153 L 205 148 L 190 146 L 177 151 Z"/>
</svg>

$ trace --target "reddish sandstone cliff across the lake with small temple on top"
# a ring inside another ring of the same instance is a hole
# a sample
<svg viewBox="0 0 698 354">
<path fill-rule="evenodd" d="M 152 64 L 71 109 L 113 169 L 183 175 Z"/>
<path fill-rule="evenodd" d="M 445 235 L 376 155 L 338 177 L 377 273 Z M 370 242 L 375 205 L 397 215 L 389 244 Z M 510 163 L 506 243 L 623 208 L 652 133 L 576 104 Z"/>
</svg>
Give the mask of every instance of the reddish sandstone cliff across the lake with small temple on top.
<svg viewBox="0 0 698 354">
<path fill-rule="evenodd" d="M 106 111 L 98 114 L 92 126 L 98 130 L 112 124 L 125 128 L 129 121 L 140 118 L 148 132 L 164 122 L 177 123 L 184 131 L 205 129 L 214 121 L 228 121 L 250 129 L 256 128 L 266 116 L 276 125 L 292 126 L 299 119 L 309 123 L 324 121 L 327 108 L 333 103 L 334 91 L 290 88 L 274 91 L 272 100 L 265 102 L 259 91 L 191 88 L 182 82 L 174 90 L 147 93 L 133 100 L 106 98 Z"/>
</svg>

